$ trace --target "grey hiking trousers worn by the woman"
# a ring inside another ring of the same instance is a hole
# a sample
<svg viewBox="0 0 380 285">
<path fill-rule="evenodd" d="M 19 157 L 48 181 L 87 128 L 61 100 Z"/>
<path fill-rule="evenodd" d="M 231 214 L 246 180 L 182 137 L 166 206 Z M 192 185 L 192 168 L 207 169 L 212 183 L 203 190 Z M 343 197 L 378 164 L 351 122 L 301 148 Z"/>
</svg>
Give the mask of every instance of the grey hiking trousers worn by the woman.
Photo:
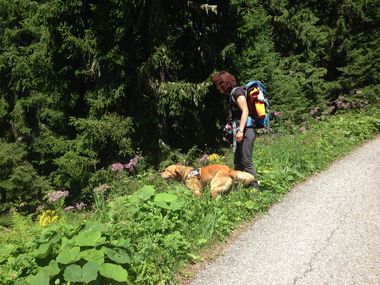
<svg viewBox="0 0 380 285">
<path fill-rule="evenodd" d="M 245 128 L 244 139 L 241 142 L 236 141 L 235 134 L 236 132 L 234 132 L 233 143 L 235 169 L 249 172 L 257 180 L 257 173 L 252 160 L 253 145 L 256 139 L 255 129 Z"/>
</svg>

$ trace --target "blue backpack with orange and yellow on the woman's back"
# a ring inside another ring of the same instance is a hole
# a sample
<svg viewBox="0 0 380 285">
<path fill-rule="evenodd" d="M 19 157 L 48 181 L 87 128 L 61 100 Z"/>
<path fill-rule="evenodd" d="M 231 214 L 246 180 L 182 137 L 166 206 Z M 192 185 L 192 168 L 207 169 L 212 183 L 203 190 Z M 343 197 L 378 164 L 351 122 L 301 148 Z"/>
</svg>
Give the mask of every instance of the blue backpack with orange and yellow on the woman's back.
<svg viewBox="0 0 380 285">
<path fill-rule="evenodd" d="M 249 101 L 248 107 L 250 109 L 250 114 L 252 115 L 253 120 L 255 121 L 255 127 L 257 129 L 268 128 L 270 112 L 269 112 L 269 100 L 268 100 L 267 90 L 265 88 L 265 85 L 260 80 L 251 80 L 247 84 L 245 84 L 244 87 L 245 88 L 243 88 L 243 90 L 245 92 L 245 97 L 247 98 L 247 101 Z M 254 97 L 255 95 L 251 94 L 251 90 L 254 90 L 254 88 L 260 89 L 264 95 L 264 101 L 262 102 L 264 103 L 264 106 L 265 106 L 264 116 L 259 117 L 256 111 L 255 102 L 257 102 L 257 97 Z"/>
</svg>

